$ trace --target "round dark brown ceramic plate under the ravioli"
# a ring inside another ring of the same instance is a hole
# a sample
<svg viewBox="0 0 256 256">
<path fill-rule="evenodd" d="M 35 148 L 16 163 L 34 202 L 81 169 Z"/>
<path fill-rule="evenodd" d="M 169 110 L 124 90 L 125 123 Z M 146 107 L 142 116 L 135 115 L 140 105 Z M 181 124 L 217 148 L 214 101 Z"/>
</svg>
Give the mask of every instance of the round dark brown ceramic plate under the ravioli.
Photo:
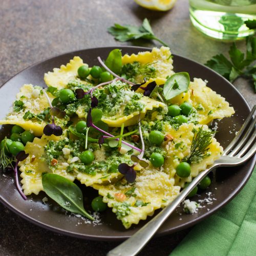
<svg viewBox="0 0 256 256">
<path fill-rule="evenodd" d="M 138 47 L 119 47 L 122 53 L 138 53 L 139 51 L 148 50 L 147 48 Z M 55 67 L 66 64 L 74 56 L 80 56 L 89 66 L 98 65 L 97 56 L 103 59 L 114 47 L 94 48 L 70 52 L 51 59 L 39 62 L 16 76 L 11 78 L 0 89 L 0 118 L 4 118 L 9 107 L 15 100 L 15 95 L 24 83 L 45 87 L 44 73 L 52 71 Z M 235 136 L 250 112 L 250 108 L 243 96 L 222 76 L 216 72 L 200 65 L 199 63 L 174 55 L 174 70 L 176 72 L 186 71 L 191 79 L 200 77 L 208 80 L 208 86 L 221 94 L 233 106 L 236 114 L 231 118 L 224 118 L 218 123 L 217 140 L 225 148 L 231 139 Z M 10 125 L 4 125 L 0 131 L 0 139 L 10 132 Z M 203 208 L 199 209 L 197 214 L 184 214 L 182 207 L 178 207 L 163 226 L 159 229 L 157 235 L 172 233 L 183 228 L 198 223 L 207 218 L 216 210 L 223 207 L 245 185 L 253 169 L 253 159 L 239 167 L 219 168 L 211 174 L 212 184 L 200 195 L 195 196 L 193 200 L 211 198 L 209 202 L 202 203 Z M 126 230 L 120 221 L 116 219 L 111 209 L 101 214 L 100 225 L 86 224 L 84 220 L 69 215 L 62 211 L 54 202 L 48 201 L 45 205 L 42 198 L 46 195 L 41 192 L 38 196 L 29 196 L 29 200 L 24 201 L 18 194 L 14 180 L 13 172 L 0 175 L 0 201 L 8 208 L 41 227 L 67 234 L 69 236 L 92 239 L 92 240 L 122 240 L 132 236 L 147 221 L 140 221 L 138 225 L 133 225 Z M 97 195 L 97 191 L 85 186 L 80 186 L 85 197 L 85 208 L 90 209 L 90 202 Z M 209 194 L 210 193 L 210 194 Z M 206 195 L 207 194 L 207 195 Z M 210 195 L 210 196 L 209 196 Z M 157 212 L 156 212 L 157 213 Z M 152 217 L 148 217 L 150 220 Z"/>
</svg>

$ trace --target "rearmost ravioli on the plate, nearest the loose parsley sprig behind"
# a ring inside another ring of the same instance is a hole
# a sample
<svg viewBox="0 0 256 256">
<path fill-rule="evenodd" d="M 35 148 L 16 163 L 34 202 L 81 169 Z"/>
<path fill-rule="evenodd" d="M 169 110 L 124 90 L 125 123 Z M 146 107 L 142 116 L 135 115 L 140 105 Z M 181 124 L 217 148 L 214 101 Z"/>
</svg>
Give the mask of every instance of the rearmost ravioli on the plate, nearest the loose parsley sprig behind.
<svg viewBox="0 0 256 256">
<path fill-rule="evenodd" d="M 139 52 L 138 54 L 128 55 L 125 54 L 122 57 L 123 65 L 127 63 L 133 63 L 138 61 L 141 65 L 147 65 L 148 63 L 152 63 L 156 69 L 156 78 L 166 78 L 169 75 L 173 75 L 173 59 L 172 53 L 168 47 L 162 46 L 160 49 L 153 48 L 151 52 Z M 136 77 L 137 82 L 143 81 L 142 76 Z M 153 80 L 155 80 L 153 78 Z"/>
</svg>

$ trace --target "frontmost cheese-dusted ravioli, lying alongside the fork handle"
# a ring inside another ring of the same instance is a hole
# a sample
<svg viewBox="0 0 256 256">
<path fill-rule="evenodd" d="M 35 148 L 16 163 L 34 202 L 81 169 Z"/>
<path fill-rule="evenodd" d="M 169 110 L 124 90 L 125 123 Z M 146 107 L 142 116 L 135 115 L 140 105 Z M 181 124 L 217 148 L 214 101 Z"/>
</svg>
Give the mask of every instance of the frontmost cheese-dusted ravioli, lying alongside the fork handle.
<svg viewBox="0 0 256 256">
<path fill-rule="evenodd" d="M 173 201 L 180 191 L 180 187 L 174 185 L 174 179 L 152 167 L 141 170 L 134 184 L 122 179 L 107 186 L 93 187 L 99 190 L 103 202 L 113 208 L 125 228 L 152 216 L 156 209 Z"/>
</svg>

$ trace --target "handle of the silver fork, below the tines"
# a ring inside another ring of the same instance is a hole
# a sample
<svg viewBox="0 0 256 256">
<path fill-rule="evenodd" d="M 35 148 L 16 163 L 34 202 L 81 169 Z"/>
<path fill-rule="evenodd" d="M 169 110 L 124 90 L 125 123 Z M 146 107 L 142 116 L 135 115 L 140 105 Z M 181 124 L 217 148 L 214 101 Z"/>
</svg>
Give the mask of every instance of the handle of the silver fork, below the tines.
<svg viewBox="0 0 256 256">
<path fill-rule="evenodd" d="M 178 197 L 173 202 L 170 202 L 163 210 L 159 212 L 150 222 L 139 229 L 132 237 L 118 245 L 113 250 L 109 251 L 107 256 L 133 256 L 147 244 L 160 228 L 163 222 L 172 214 L 176 207 L 187 197 L 193 188 L 214 168 L 219 165 L 214 163 L 209 168 L 201 172 L 194 180 L 184 188 Z"/>
</svg>

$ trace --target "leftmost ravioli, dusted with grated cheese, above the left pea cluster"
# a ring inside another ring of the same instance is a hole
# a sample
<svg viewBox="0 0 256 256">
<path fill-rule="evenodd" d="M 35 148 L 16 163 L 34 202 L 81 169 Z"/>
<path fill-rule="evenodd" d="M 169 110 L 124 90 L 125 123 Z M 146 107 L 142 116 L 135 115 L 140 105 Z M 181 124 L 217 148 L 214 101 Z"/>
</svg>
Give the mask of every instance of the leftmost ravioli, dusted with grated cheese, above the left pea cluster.
<svg viewBox="0 0 256 256">
<path fill-rule="evenodd" d="M 51 95 L 49 97 L 52 98 Z M 20 108 L 17 112 L 12 109 L 5 120 L 0 120 L 0 124 L 17 124 L 25 130 L 33 131 L 35 136 L 41 136 L 46 123 L 37 119 L 25 120 L 23 116 L 28 111 L 35 115 L 40 114 L 49 107 L 47 98 L 42 93 L 42 88 L 34 87 L 32 84 L 24 84 L 16 98 L 23 102 L 24 108 Z"/>
</svg>

